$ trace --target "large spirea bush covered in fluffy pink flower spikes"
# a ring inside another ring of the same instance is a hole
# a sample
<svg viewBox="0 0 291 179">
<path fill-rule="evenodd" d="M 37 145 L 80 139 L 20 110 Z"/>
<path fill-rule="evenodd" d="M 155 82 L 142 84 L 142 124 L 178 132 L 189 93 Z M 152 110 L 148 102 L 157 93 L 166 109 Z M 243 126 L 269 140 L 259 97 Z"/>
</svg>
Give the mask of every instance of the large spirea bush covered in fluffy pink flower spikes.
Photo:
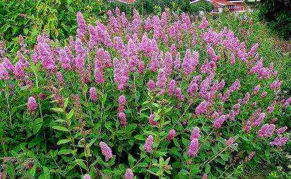
<svg viewBox="0 0 291 179">
<path fill-rule="evenodd" d="M 1 48 L 3 178 L 237 178 L 284 154 L 291 98 L 258 43 L 168 11 L 77 22 Z"/>
</svg>

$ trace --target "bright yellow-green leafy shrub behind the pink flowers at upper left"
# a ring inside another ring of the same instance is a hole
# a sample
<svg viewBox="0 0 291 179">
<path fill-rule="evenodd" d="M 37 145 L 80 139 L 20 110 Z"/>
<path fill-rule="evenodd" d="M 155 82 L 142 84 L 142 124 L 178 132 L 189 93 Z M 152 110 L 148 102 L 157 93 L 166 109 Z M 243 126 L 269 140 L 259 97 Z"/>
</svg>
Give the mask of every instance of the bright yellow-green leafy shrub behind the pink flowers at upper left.
<svg viewBox="0 0 291 179">
<path fill-rule="evenodd" d="M 108 0 L 1 0 L 0 38 L 9 42 L 8 49 L 18 48 L 17 37 L 26 36 L 29 45 L 43 30 L 57 39 L 75 34 L 76 14 L 84 11 L 90 22 L 105 19 Z"/>
</svg>

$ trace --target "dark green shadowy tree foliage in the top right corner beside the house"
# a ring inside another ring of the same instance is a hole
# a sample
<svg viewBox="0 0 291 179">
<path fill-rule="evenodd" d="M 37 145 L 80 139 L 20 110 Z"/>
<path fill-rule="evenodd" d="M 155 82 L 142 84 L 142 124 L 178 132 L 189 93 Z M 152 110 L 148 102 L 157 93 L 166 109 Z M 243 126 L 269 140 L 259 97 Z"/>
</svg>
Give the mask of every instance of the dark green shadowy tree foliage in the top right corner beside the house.
<svg viewBox="0 0 291 179">
<path fill-rule="evenodd" d="M 291 0 L 262 0 L 258 7 L 271 29 L 281 38 L 291 40 Z"/>
</svg>

